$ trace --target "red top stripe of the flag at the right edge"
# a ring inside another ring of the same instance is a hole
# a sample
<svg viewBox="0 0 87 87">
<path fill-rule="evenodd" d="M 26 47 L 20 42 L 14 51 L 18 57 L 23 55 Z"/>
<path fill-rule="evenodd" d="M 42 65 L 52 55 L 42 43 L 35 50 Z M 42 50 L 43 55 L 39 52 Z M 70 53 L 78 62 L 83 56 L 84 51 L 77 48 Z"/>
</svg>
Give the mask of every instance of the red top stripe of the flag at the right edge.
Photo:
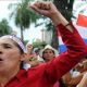
<svg viewBox="0 0 87 87">
<path fill-rule="evenodd" d="M 78 26 L 87 27 L 87 16 L 78 14 L 77 23 Z"/>
</svg>

